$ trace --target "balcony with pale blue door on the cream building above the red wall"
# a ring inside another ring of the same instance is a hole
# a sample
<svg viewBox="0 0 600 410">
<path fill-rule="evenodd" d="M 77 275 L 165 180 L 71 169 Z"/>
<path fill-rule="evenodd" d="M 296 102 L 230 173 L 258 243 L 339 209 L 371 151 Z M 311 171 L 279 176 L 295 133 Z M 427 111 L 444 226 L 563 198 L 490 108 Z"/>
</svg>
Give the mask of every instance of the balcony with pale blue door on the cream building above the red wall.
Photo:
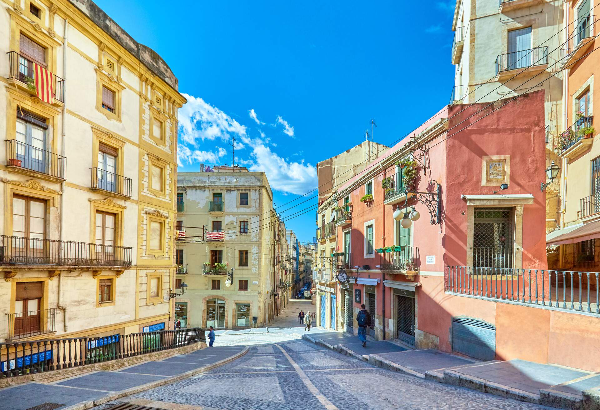
<svg viewBox="0 0 600 410">
<path fill-rule="evenodd" d="M 500 54 L 496 58 L 496 80 L 506 80 L 521 73 L 537 74 L 547 67 L 548 46 Z"/>
</svg>

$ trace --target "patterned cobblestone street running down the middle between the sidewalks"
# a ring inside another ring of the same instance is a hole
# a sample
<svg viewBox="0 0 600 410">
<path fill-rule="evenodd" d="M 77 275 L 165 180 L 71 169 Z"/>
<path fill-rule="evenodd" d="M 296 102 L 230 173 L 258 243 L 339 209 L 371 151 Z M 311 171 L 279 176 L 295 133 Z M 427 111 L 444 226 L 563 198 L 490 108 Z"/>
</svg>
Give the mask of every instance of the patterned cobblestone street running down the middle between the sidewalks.
<svg viewBox="0 0 600 410">
<path fill-rule="evenodd" d="M 292 303 L 288 309 L 296 307 Z M 169 404 L 176 403 L 207 410 L 546 408 L 380 369 L 299 340 L 304 328 L 254 331 L 217 336 L 215 345 L 251 345 L 237 360 L 120 401 L 147 399 L 149 407 L 176 408 Z"/>
</svg>

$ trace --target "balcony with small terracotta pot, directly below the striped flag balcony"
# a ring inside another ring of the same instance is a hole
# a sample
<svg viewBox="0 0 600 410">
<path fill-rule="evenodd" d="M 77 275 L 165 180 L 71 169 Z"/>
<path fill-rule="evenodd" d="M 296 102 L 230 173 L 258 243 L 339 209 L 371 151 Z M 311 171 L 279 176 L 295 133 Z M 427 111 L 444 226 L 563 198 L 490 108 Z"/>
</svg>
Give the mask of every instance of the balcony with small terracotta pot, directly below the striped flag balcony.
<svg viewBox="0 0 600 410">
<path fill-rule="evenodd" d="M 45 149 L 9 139 L 6 142 L 7 168 L 26 175 L 61 182 L 65 180 L 67 158 Z"/>
</svg>

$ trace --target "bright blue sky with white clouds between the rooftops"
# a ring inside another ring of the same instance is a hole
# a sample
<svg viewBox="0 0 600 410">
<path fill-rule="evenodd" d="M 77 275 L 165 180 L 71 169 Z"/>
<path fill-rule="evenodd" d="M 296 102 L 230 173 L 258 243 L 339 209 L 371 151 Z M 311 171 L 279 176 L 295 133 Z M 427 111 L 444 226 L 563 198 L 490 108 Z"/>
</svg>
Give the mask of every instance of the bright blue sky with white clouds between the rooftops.
<svg viewBox="0 0 600 410">
<path fill-rule="evenodd" d="M 371 118 L 390 145 L 450 98 L 454 0 L 95 1 L 179 78 L 179 170 L 231 164 L 235 136 L 236 163 L 266 172 L 284 218 L 316 205 L 299 204 L 316 191 L 284 203 L 316 188 L 316 163 L 361 143 Z M 286 226 L 311 241 L 315 220 Z"/>
</svg>

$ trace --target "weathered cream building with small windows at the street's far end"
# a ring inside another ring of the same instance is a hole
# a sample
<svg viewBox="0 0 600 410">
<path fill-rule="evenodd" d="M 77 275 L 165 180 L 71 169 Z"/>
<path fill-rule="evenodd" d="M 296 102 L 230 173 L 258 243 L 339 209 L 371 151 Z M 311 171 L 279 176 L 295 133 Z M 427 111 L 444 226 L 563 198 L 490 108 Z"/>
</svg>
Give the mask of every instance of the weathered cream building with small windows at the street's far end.
<svg viewBox="0 0 600 410">
<path fill-rule="evenodd" d="M 272 191 L 265 173 L 244 167 L 181 172 L 177 190 L 177 220 L 186 236 L 177 241 L 184 267 L 177 279 L 188 288 L 176 304 L 187 312 L 185 325 L 251 327 L 254 317 L 257 325 L 266 324 L 274 266 Z"/>
</svg>

